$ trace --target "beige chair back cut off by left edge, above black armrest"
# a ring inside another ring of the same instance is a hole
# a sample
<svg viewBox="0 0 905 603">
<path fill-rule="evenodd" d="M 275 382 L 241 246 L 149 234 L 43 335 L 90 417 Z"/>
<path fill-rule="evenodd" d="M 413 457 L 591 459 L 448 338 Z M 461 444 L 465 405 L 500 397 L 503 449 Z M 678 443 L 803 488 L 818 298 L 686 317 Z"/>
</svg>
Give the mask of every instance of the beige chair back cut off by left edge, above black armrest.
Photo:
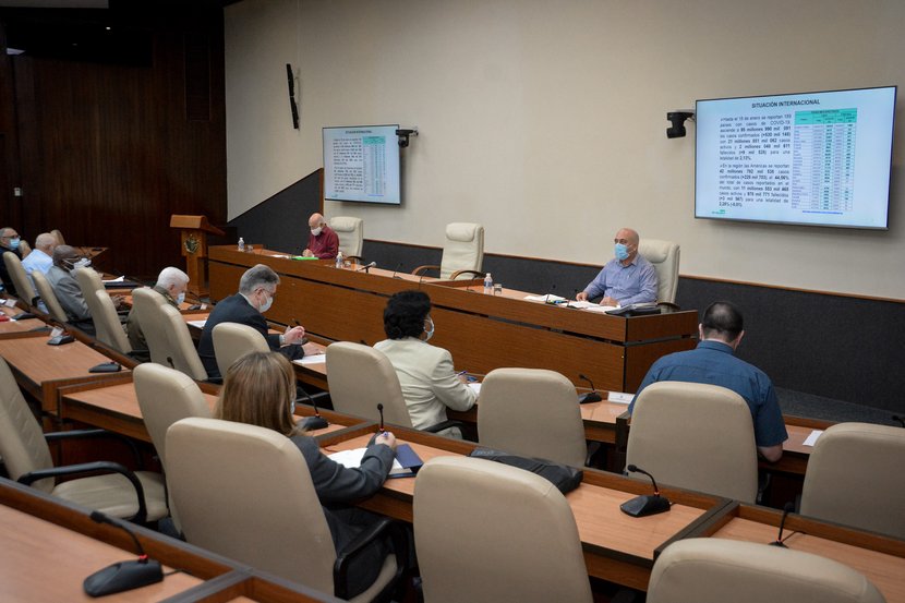
<svg viewBox="0 0 905 603">
<path fill-rule="evenodd" d="M 0 358 L 0 457 L 10 478 L 17 480 L 29 471 L 53 467 L 44 433 L 7 361 Z M 53 480 L 40 480 L 34 487 L 50 492 Z"/>
</svg>

